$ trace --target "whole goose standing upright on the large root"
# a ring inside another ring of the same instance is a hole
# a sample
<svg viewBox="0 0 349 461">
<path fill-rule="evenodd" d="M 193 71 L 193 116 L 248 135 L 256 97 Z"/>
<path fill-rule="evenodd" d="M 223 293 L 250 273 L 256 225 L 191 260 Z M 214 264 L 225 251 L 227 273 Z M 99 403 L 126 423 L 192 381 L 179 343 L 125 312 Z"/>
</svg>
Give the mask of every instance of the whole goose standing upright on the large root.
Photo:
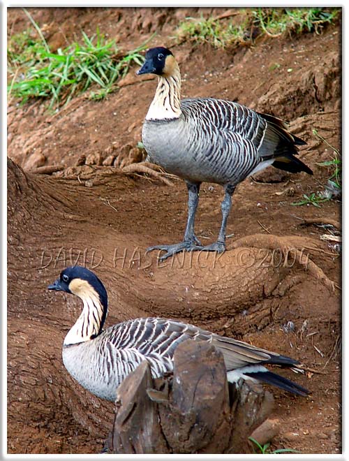
<svg viewBox="0 0 349 461">
<path fill-rule="evenodd" d="M 151 48 L 138 75 L 158 75 L 158 86 L 142 128 L 147 160 L 183 178 L 188 187 L 188 221 L 183 242 L 149 247 L 164 250 L 161 260 L 179 251 L 225 251 L 232 193 L 249 175 L 272 165 L 281 170 L 313 172 L 297 159 L 297 145 L 306 142 L 287 131 L 284 122 L 231 101 L 213 98 L 181 101 L 177 61 L 164 47 Z M 222 223 L 218 240 L 202 246 L 194 232 L 202 182 L 221 184 Z"/>
</svg>

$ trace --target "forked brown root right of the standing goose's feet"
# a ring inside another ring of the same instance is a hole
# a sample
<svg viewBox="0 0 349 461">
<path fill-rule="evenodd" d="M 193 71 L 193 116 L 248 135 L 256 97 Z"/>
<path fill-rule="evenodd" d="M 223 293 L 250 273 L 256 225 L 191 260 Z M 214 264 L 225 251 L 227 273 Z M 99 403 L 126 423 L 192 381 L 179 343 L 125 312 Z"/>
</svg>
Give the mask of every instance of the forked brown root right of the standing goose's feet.
<svg viewBox="0 0 349 461">
<path fill-rule="evenodd" d="M 330 280 L 327 275 L 325 275 L 325 272 L 309 259 L 309 255 L 303 252 L 304 245 L 309 242 L 309 240 L 311 239 L 293 235 L 279 237 L 278 235 L 255 234 L 239 238 L 239 240 L 236 240 L 232 244 L 232 247 L 257 247 L 270 250 L 280 249 L 285 258 L 285 265 L 288 263 L 289 257 L 294 258 L 299 265 L 302 265 L 305 270 L 309 272 L 309 274 L 319 279 L 330 291 L 334 291 L 334 288 L 339 288 L 339 286 L 334 284 L 334 281 Z"/>
</svg>

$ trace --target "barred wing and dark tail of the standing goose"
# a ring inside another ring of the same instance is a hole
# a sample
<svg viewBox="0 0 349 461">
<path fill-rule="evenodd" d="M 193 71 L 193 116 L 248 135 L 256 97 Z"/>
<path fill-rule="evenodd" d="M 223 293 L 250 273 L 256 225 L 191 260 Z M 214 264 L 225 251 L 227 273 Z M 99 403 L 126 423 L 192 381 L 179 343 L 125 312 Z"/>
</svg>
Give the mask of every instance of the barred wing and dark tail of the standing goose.
<svg viewBox="0 0 349 461">
<path fill-rule="evenodd" d="M 181 110 L 191 126 L 193 142 L 199 141 L 205 155 L 238 172 L 237 182 L 267 162 L 284 170 L 311 173 L 295 159 L 303 140 L 292 135 L 287 124 L 272 115 L 255 112 L 244 105 L 214 98 L 184 99 Z M 235 178 L 234 178 L 235 179 Z"/>
</svg>

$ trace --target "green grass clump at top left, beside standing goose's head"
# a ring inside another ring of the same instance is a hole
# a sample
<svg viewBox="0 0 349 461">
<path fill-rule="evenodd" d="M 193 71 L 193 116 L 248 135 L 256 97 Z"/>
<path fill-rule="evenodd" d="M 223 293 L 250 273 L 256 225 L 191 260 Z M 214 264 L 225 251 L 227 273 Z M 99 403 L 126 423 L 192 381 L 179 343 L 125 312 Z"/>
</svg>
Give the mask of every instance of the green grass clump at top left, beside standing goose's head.
<svg viewBox="0 0 349 461">
<path fill-rule="evenodd" d="M 8 96 L 23 103 L 45 98 L 50 101 L 50 109 L 58 108 L 91 85 L 96 90 L 90 98 L 105 98 L 133 64 L 140 66 L 144 61 L 140 52 L 145 43 L 136 50 L 121 52 L 115 41 L 99 30 L 92 37 L 82 32 L 82 43 L 51 52 L 40 28 L 30 15 L 29 19 L 37 34 L 28 30 L 12 36 L 8 43 Z"/>
</svg>

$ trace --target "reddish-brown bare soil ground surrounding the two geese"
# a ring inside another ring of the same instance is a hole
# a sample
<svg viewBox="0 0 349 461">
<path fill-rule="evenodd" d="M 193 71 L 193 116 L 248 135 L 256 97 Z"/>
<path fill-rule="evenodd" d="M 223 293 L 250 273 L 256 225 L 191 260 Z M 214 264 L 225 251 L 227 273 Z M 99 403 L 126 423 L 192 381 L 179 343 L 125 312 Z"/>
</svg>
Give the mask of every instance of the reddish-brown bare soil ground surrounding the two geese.
<svg viewBox="0 0 349 461">
<path fill-rule="evenodd" d="M 104 281 L 107 325 L 170 316 L 301 360 L 310 371 L 285 375 L 311 396 L 273 389 L 282 424 L 272 449 L 340 453 L 341 260 L 338 245 L 323 235 L 339 230 L 341 208 L 336 200 L 319 208 L 292 203 L 324 189 L 332 172 L 318 163 L 331 159 L 329 145 L 341 147 L 341 24 L 320 35 L 214 50 L 176 45 L 172 37 L 184 17 L 216 17 L 221 8 L 29 10 L 54 50 L 97 26 L 125 50 L 156 31 L 149 45 L 172 48 L 184 97 L 223 97 L 289 121 L 307 142 L 300 158 L 314 175 L 269 167 L 249 178 L 235 192 L 223 256 L 186 254 L 159 264 L 145 249 L 181 239 L 186 186 L 121 168 L 143 158 L 136 146 L 156 83 L 136 77 L 134 68 L 104 101 L 78 96 L 53 115 L 43 101 L 10 98 L 8 453 L 99 453 L 111 428 L 113 405 L 85 392 L 61 363 L 80 304 L 46 286 L 72 263 Z M 23 11 L 9 8 L 8 34 L 27 27 Z M 60 170 L 38 174 L 45 166 Z M 219 186 L 203 184 L 197 234 L 205 242 L 218 233 L 221 198 Z M 280 247 L 292 250 L 287 261 Z M 302 252 L 313 265 L 291 257 Z"/>
</svg>

